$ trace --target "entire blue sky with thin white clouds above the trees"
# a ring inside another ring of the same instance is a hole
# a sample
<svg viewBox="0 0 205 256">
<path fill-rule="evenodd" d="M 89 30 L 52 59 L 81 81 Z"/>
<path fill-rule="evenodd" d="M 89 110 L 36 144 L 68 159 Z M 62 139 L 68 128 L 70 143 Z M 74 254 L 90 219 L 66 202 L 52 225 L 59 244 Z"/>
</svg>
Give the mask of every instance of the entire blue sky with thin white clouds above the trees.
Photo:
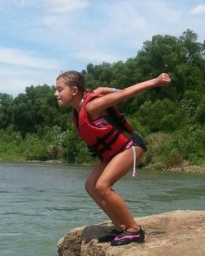
<svg viewBox="0 0 205 256">
<path fill-rule="evenodd" d="M 190 29 L 203 43 L 204 24 L 203 0 L 0 0 L 0 93 L 126 61 L 155 34 Z"/>
</svg>

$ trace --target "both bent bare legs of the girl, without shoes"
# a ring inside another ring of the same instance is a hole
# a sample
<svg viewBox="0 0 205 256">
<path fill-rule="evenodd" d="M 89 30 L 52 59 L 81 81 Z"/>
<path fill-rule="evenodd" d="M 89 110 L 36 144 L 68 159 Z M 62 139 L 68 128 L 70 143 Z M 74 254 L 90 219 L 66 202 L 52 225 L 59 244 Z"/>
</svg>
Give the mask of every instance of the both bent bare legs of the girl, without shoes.
<svg viewBox="0 0 205 256">
<path fill-rule="evenodd" d="M 137 158 L 141 158 L 144 150 L 135 147 Z M 126 149 L 122 153 L 112 158 L 112 161 L 101 167 L 95 167 L 88 181 L 86 182 L 87 190 L 90 196 L 98 205 L 103 208 L 103 211 L 112 219 L 112 222 L 120 228 L 125 226 L 125 229 L 137 231 L 139 226 L 134 221 L 128 210 L 125 202 L 121 197 L 112 190 L 112 185 L 124 176 L 130 167 L 133 165 L 132 149 Z M 90 189 L 92 184 L 93 190 Z"/>
</svg>

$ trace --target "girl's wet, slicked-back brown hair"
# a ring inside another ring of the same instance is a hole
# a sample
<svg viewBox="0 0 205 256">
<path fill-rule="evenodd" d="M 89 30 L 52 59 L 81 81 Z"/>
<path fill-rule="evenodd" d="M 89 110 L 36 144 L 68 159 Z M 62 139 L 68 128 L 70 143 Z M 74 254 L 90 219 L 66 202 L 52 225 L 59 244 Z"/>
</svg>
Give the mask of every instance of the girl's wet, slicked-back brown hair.
<svg viewBox="0 0 205 256">
<path fill-rule="evenodd" d="M 80 74 L 78 71 L 66 71 L 61 75 L 57 76 L 57 80 L 63 78 L 66 84 L 76 86 L 81 94 L 84 94 L 84 75 Z"/>
</svg>

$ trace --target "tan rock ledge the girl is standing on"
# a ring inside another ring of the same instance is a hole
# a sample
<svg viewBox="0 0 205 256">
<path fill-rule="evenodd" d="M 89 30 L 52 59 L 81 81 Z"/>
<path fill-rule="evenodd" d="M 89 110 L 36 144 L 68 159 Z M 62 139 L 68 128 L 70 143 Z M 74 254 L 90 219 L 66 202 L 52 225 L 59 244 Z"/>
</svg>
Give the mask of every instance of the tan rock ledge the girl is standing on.
<svg viewBox="0 0 205 256">
<path fill-rule="evenodd" d="M 205 211 L 173 211 L 137 221 L 145 231 L 145 243 L 112 247 L 98 243 L 98 236 L 112 230 L 111 222 L 83 226 L 59 240 L 59 256 L 203 256 L 205 255 Z"/>
</svg>

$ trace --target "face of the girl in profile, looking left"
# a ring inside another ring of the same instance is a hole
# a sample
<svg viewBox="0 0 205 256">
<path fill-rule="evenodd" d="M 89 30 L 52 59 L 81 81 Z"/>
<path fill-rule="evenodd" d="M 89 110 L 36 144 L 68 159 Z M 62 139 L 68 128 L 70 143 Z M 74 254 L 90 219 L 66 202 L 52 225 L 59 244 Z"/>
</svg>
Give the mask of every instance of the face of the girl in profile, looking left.
<svg viewBox="0 0 205 256">
<path fill-rule="evenodd" d="M 74 87 L 66 84 L 63 78 L 57 80 L 55 96 L 57 97 L 57 103 L 60 107 L 70 105 L 73 98 Z"/>
</svg>

